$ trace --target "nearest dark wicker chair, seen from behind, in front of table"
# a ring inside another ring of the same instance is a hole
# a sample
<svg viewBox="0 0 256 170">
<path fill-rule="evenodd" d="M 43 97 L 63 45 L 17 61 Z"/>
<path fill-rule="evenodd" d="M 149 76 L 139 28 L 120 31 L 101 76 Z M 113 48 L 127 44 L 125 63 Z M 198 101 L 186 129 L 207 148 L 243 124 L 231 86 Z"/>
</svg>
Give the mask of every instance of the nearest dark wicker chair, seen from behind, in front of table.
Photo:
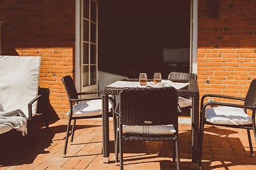
<svg viewBox="0 0 256 170">
<path fill-rule="evenodd" d="M 123 141 L 131 140 L 172 141 L 173 162 L 177 157 L 179 169 L 177 106 L 177 90 L 173 87 L 125 88 L 120 92 L 120 101 L 115 109 L 118 121 L 115 143 L 120 153 L 120 169 L 123 169 Z"/>
</svg>

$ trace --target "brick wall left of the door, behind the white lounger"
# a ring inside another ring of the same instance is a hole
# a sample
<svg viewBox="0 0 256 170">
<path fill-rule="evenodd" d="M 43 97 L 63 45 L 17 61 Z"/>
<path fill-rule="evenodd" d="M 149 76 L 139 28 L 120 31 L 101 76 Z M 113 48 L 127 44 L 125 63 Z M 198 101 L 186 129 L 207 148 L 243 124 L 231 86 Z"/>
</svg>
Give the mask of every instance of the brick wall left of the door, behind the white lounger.
<svg viewBox="0 0 256 170">
<path fill-rule="evenodd" d="M 74 75 L 75 1 L 0 1 L 2 55 L 41 56 L 40 87 L 50 90 L 54 111 L 64 116 L 61 77 Z"/>
</svg>

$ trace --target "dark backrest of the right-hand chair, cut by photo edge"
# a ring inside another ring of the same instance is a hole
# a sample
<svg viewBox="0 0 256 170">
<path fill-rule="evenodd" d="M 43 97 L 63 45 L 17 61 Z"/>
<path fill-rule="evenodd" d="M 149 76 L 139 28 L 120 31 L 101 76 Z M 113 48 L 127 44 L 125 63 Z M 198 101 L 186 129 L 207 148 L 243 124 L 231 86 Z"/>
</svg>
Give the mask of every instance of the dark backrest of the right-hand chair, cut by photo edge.
<svg viewBox="0 0 256 170">
<path fill-rule="evenodd" d="M 256 104 L 256 79 L 252 80 L 244 100 L 244 106 L 255 106 Z"/>
</svg>

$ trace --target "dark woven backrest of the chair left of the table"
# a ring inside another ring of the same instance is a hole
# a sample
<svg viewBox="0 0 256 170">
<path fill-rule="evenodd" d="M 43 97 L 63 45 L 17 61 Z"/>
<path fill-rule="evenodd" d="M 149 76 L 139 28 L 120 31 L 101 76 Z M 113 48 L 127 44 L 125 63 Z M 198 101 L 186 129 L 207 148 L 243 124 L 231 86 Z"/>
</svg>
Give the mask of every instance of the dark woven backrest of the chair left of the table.
<svg viewBox="0 0 256 170">
<path fill-rule="evenodd" d="M 71 76 L 64 76 L 62 78 L 63 85 L 66 89 L 66 92 L 68 94 L 68 99 L 78 99 L 78 94 L 76 87 L 74 85 L 74 81 Z"/>
</svg>

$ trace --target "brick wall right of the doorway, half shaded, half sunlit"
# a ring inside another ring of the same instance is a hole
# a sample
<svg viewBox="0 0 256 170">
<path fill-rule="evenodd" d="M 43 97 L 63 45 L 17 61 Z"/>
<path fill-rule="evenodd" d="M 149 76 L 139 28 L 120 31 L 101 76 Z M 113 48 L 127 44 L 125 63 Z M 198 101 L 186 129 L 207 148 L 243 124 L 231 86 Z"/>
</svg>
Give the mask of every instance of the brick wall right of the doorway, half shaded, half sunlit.
<svg viewBox="0 0 256 170">
<path fill-rule="evenodd" d="M 256 78 L 256 1 L 219 1 L 219 17 L 209 1 L 198 6 L 198 82 L 205 93 L 243 96 Z"/>
</svg>

